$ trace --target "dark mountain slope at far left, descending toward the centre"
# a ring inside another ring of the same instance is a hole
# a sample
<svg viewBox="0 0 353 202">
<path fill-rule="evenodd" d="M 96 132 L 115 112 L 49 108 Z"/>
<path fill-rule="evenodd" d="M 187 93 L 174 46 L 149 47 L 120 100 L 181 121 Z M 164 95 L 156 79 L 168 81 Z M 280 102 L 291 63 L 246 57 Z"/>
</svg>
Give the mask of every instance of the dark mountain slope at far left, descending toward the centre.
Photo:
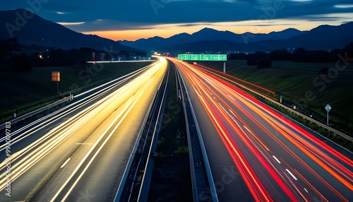
<svg viewBox="0 0 353 202">
<path fill-rule="evenodd" d="M 44 20 L 25 9 L 0 11 L 0 40 L 16 37 L 20 44 L 71 49 L 90 47 L 102 50 L 131 50 L 131 47 L 97 35 L 84 35 L 63 25 Z"/>
</svg>

